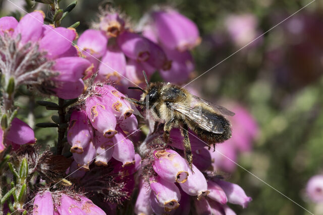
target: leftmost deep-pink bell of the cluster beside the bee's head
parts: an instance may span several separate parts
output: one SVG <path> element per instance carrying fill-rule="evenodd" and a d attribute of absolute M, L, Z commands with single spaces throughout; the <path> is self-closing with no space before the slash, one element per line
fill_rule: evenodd
<path fill-rule="evenodd" d="M 70 125 L 67 132 L 67 140 L 72 146 L 72 153 L 83 153 L 91 138 L 90 125 L 88 124 L 85 111 L 73 111 L 71 114 Z"/>

